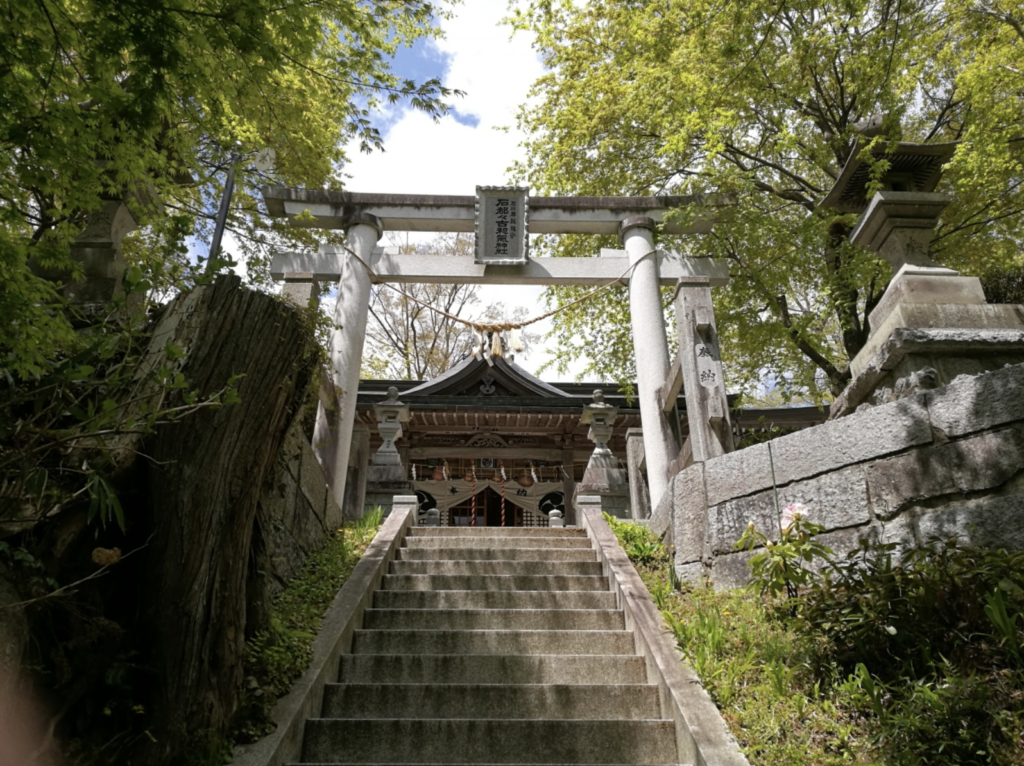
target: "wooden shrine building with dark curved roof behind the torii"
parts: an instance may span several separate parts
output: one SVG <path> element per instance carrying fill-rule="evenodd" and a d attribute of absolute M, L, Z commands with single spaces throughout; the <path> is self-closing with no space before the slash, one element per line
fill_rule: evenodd
<path fill-rule="evenodd" d="M 443 526 L 547 526 L 552 510 L 571 523 L 570 501 L 595 452 L 583 416 L 598 389 L 617 409 L 607 441 L 623 479 L 617 515 L 650 514 L 635 398 L 614 384 L 548 383 L 513 358 L 472 356 L 428 381 L 359 381 L 347 495 L 355 507 L 387 508 L 400 488 L 375 485 L 368 476 L 371 457 L 384 442 L 375 406 L 387 400 L 389 389 L 397 389 L 409 408 L 395 448 L 421 523 L 432 509 Z M 688 435 L 685 412 L 679 395 L 670 417 L 679 443 Z M 734 412 L 732 423 L 736 438 L 756 438 L 769 427 L 796 430 L 825 418 L 827 411 L 814 407 L 752 409 Z"/>

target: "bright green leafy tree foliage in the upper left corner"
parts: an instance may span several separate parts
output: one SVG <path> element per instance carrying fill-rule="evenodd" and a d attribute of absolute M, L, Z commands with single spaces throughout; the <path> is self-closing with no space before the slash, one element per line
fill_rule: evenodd
<path fill-rule="evenodd" d="M 388 63 L 437 34 L 441 12 L 423 0 L 0 2 L 0 369 L 36 375 L 71 342 L 53 286 L 27 264 L 73 267 L 69 244 L 104 199 L 133 195 L 147 226 L 129 259 L 173 284 L 233 163 L 230 225 L 258 280 L 269 243 L 299 239 L 260 217 L 259 183 L 339 187 L 343 144 L 381 144 L 375 108 L 445 112 L 438 81 Z M 272 175 L 251 167 L 264 147 Z"/>

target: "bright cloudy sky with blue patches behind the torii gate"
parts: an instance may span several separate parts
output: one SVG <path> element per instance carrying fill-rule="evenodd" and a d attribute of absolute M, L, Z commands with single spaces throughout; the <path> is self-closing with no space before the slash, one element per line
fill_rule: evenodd
<path fill-rule="evenodd" d="M 382 115 L 378 127 L 384 138 L 383 153 L 366 155 L 354 144 L 348 147 L 344 172 L 351 192 L 411 195 L 473 195 L 477 185 L 511 182 L 508 168 L 523 159 L 515 116 L 527 98 L 530 85 L 544 73 L 540 57 L 530 47 L 531 37 L 501 24 L 506 3 L 474 0 L 455 6 L 456 16 L 441 22 L 442 40 L 421 40 L 412 49 L 401 49 L 393 68 L 417 82 L 439 77 L 447 87 L 465 91 L 452 99 L 453 113 L 434 123 L 411 109 Z M 429 239 L 429 235 L 421 235 Z M 528 315 L 546 310 L 543 288 L 483 286 L 486 303 L 525 305 Z M 546 333 L 550 321 L 532 330 Z M 516 363 L 536 373 L 549 358 L 548 344 L 541 343 Z M 568 375 L 545 373 L 546 380 L 575 377 L 582 365 Z"/>

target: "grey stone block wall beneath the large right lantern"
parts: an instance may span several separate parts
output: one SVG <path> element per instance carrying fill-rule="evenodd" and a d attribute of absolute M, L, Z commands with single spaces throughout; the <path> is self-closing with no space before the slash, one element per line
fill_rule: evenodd
<path fill-rule="evenodd" d="M 1024 549 L 1024 365 L 969 377 L 697 463 L 673 477 L 650 525 L 671 534 L 685 579 L 741 585 L 753 553 L 733 544 L 751 521 L 766 534 L 778 503 L 801 503 L 839 553 L 860 539 L 933 536 Z M 770 536 L 771 537 L 771 536 Z"/>

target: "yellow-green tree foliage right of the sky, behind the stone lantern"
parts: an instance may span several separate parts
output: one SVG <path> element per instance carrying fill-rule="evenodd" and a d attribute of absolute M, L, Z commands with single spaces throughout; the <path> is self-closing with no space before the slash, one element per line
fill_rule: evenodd
<path fill-rule="evenodd" d="M 768 373 L 827 398 L 891 278 L 850 245 L 856 216 L 817 207 L 854 153 L 961 141 L 934 255 L 968 273 L 1020 267 L 1022 19 L 1015 0 L 535 0 L 512 23 L 550 71 L 520 113 L 516 170 L 542 194 L 710 195 L 678 216 L 711 206 L 712 233 L 663 245 L 729 261 L 716 308 L 731 383 Z M 596 348 L 631 379 L 627 315 L 610 291 L 559 314 L 562 358 Z"/>

